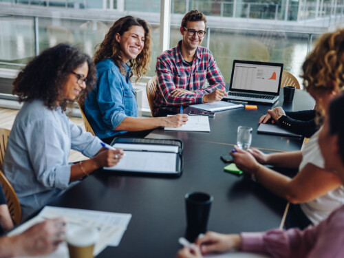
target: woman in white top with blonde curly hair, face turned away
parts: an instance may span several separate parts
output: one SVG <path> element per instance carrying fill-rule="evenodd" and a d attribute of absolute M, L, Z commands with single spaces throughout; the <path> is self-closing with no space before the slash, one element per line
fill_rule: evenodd
<path fill-rule="evenodd" d="M 344 30 L 321 36 L 302 69 L 303 85 L 316 100 L 318 114 L 323 116 L 330 100 L 344 87 Z M 288 226 L 305 228 L 319 224 L 344 204 L 341 180 L 336 173 L 324 169 L 318 135 L 319 131 L 314 133 L 302 151 L 265 154 L 257 149 L 237 149 L 231 153 L 239 169 L 292 203 Z M 299 173 L 288 178 L 261 164 L 299 169 Z"/>

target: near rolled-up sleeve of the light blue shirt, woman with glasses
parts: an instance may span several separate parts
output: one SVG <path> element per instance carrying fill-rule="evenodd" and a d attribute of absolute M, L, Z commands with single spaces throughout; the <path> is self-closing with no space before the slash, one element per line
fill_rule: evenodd
<path fill-rule="evenodd" d="M 61 140 L 61 127 L 54 120 L 36 120 L 23 133 L 32 169 L 37 180 L 47 189 L 66 189 L 69 185 L 69 142 Z M 68 146 L 64 146 L 67 144 Z"/>

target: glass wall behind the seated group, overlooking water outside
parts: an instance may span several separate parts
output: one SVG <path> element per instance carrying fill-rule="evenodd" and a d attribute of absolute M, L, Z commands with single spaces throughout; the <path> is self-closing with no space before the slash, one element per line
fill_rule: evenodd
<path fill-rule="evenodd" d="M 216 58 L 219 68 L 222 70 L 226 81 L 230 80 L 230 70 L 233 59 L 270 61 L 284 63 L 284 69 L 298 76 L 301 63 L 310 51 L 313 39 L 317 33 L 300 33 L 290 31 L 289 23 L 297 19 L 316 18 L 316 24 L 323 26 L 329 20 L 341 21 L 343 18 L 344 0 L 336 1 L 334 6 L 330 0 L 277 0 L 277 1 L 248 1 L 248 0 L 172 0 L 171 13 L 182 14 L 192 9 L 199 9 L 212 19 L 219 19 L 219 23 L 208 25 L 206 38 L 203 45 L 208 47 Z M 59 3 L 59 4 L 58 4 Z M 61 4 L 64 3 L 64 4 Z M 87 54 L 93 56 L 95 47 L 103 41 L 105 34 L 113 24 L 113 21 L 89 20 L 86 17 L 93 14 L 88 8 L 104 9 L 97 10 L 96 14 L 101 17 L 102 13 L 109 14 L 109 8 L 126 11 L 160 13 L 160 0 L 75 0 L 75 1 L 31 1 L 31 0 L 0 0 L 0 5 L 12 6 L 12 8 L 25 5 L 41 8 L 42 11 L 52 8 L 67 8 L 66 12 L 78 12 L 78 17 L 85 19 L 62 19 L 26 17 L 23 15 L 0 15 L 0 68 L 20 68 L 14 64 L 25 65 L 35 55 L 47 47 L 61 42 L 79 45 Z M 105 5 L 105 6 L 103 6 Z M 53 9 L 54 8 L 54 9 Z M 56 9 L 57 8 L 57 9 Z M 70 8 L 70 9 L 69 9 Z M 73 8 L 73 9 L 72 9 Z M 76 11 L 77 10 L 77 11 Z M 84 14 L 85 13 L 85 14 Z M 118 15 L 118 14 L 117 14 Z M 72 15 L 71 15 L 72 16 Z M 327 18 L 321 18 L 326 17 Z M 159 52 L 160 18 L 151 23 L 152 29 L 152 57 L 151 69 L 148 77 L 155 74 L 155 61 Z M 257 28 L 264 28 L 269 23 L 261 23 L 259 19 L 287 20 L 280 26 L 281 30 L 261 29 L 237 29 L 222 28 L 220 17 L 235 17 L 235 21 L 244 18 L 255 19 Z M 319 18 L 320 17 L 320 18 Z M 173 21 L 175 22 L 175 21 Z M 180 21 L 175 22 L 178 24 Z M 272 21 L 273 23 L 273 21 Z M 270 23 L 270 24 L 272 24 Z M 214 25 L 216 24 L 216 25 Z M 35 33 L 36 25 L 36 33 Z M 283 30 L 283 28 L 288 30 Z M 171 26 L 170 47 L 173 47 L 181 39 L 178 26 Z"/>

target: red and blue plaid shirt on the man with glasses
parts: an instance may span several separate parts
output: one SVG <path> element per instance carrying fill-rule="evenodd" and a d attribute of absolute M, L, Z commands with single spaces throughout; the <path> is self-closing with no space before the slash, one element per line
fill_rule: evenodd
<path fill-rule="evenodd" d="M 178 113 L 182 105 L 203 103 L 203 96 L 215 89 L 226 90 L 226 83 L 210 50 L 206 47 L 197 47 L 192 65 L 182 58 L 178 43 L 171 50 L 166 50 L 157 58 L 156 74 L 158 87 L 155 92 L 153 114 L 156 116 L 159 109 L 166 109 Z M 204 87 L 208 80 L 209 87 Z M 187 89 L 196 94 L 184 94 L 172 97 L 173 89 Z"/>

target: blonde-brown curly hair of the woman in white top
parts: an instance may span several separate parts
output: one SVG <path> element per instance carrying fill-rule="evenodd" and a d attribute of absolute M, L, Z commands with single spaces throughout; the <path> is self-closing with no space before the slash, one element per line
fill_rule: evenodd
<path fill-rule="evenodd" d="M 344 86 L 344 29 L 323 34 L 302 65 L 305 89 L 332 89 Z"/>

